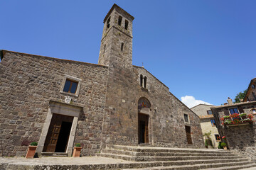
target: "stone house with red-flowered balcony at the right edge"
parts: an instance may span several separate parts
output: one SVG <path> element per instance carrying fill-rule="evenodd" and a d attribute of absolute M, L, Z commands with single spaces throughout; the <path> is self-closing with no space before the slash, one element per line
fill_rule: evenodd
<path fill-rule="evenodd" d="M 256 101 L 228 103 L 210 108 L 221 137 L 225 136 L 229 149 L 256 159 Z"/>

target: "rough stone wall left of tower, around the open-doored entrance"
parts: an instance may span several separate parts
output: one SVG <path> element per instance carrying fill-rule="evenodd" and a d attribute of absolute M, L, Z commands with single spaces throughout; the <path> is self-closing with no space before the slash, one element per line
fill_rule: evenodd
<path fill-rule="evenodd" d="M 83 107 L 75 143 L 82 144 L 85 155 L 100 149 L 107 67 L 4 51 L 0 73 L 4 156 L 24 156 L 27 145 L 38 142 L 50 100 L 64 102 L 69 96 L 60 92 L 65 75 L 82 79 L 79 96 L 70 96 L 71 105 Z"/>

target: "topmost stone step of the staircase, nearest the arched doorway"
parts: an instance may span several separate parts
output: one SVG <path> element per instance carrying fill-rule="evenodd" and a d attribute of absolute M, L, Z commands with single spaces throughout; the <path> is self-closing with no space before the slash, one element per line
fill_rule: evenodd
<path fill-rule="evenodd" d="M 122 145 L 107 145 L 106 149 L 117 149 L 132 152 L 187 152 L 187 153 L 230 153 L 223 149 L 185 149 L 167 147 L 131 147 Z"/>

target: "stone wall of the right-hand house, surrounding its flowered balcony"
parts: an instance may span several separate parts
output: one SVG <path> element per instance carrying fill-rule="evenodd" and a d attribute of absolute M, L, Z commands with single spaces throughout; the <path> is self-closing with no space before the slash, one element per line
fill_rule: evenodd
<path fill-rule="evenodd" d="M 235 103 L 233 105 L 215 106 L 211 108 L 216 120 L 216 126 L 221 136 L 225 136 L 229 149 L 233 152 L 240 152 L 245 157 L 256 160 L 256 125 L 222 125 L 220 118 L 228 115 L 229 108 L 238 108 L 240 113 L 252 114 L 252 109 L 256 108 L 256 101 Z M 253 114 L 255 116 L 255 114 Z M 255 121 L 256 118 L 253 118 Z"/>

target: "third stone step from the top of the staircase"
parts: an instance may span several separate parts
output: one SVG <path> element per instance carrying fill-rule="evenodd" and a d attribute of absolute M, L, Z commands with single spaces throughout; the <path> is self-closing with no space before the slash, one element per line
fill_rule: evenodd
<path fill-rule="evenodd" d="M 135 162 L 160 162 L 160 161 L 183 161 L 183 160 L 201 160 L 201 159 L 225 159 L 226 156 L 218 157 L 198 157 L 198 156 L 189 156 L 189 157 L 133 157 L 124 154 L 109 154 L 109 153 L 100 153 L 97 154 L 100 157 L 110 157 L 114 159 L 123 159 L 125 161 L 135 161 Z M 242 159 L 240 156 L 230 156 L 229 159 Z M 246 159 L 245 159 L 246 160 Z"/>

